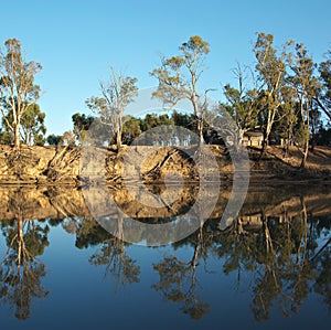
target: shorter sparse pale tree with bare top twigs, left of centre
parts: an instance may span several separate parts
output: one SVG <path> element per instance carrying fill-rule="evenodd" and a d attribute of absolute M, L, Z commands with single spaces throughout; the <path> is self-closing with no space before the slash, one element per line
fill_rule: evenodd
<path fill-rule="evenodd" d="M 116 135 L 117 150 L 121 146 L 122 117 L 126 107 L 134 102 L 138 93 L 137 78 L 117 74 L 110 68 L 109 82 L 100 82 L 102 97 L 93 96 L 86 99 L 87 107 L 97 114 L 103 124 L 110 127 Z"/>

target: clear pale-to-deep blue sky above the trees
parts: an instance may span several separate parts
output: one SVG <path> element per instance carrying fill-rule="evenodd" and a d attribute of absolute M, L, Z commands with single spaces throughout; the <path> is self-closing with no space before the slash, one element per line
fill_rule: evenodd
<path fill-rule="evenodd" d="M 273 33 L 281 45 L 303 42 L 316 62 L 331 49 L 330 0 L 140 0 L 1 1 L 0 42 L 21 41 L 28 60 L 43 65 L 47 134 L 72 128 L 71 116 L 89 114 L 85 99 L 98 94 L 110 65 L 154 86 L 149 72 L 160 55 L 174 55 L 191 35 L 210 43 L 201 88 L 233 83 L 232 68 L 253 64 L 256 32 Z"/>

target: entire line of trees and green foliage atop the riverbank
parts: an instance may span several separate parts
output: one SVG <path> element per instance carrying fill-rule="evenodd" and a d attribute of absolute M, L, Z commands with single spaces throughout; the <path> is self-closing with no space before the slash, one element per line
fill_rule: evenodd
<path fill-rule="evenodd" d="M 257 33 L 253 51 L 256 57 L 255 72 L 252 67 L 242 70 L 239 65 L 234 70 L 238 85 L 225 84 L 225 102 L 220 103 L 218 114 L 215 109 L 209 109 L 210 114 L 206 114 L 206 93 L 201 94 L 197 89 L 204 61 L 210 53 L 210 44 L 199 35 L 182 43 L 178 54 L 161 58 L 161 65 L 150 73 L 158 79 L 158 89 L 153 96 L 170 108 L 180 100 L 188 99 L 192 104 L 192 116 L 173 114 L 168 119 L 163 115 L 151 115 L 145 119 L 122 118 L 125 108 L 138 93 L 137 78 L 117 74 L 113 67 L 109 81 L 100 83 L 100 95 L 87 98 L 86 105 L 100 123 L 109 127 L 114 139 L 108 142 L 117 143 L 118 147 L 122 141 L 129 143 L 157 125 L 185 127 L 206 140 L 212 140 L 209 135 L 213 127 L 205 127 L 206 121 L 211 123 L 205 120 L 206 116 L 220 117 L 220 113 L 224 110 L 232 116 L 236 127 L 223 128 L 225 131 L 235 130 L 236 136 L 233 138 L 237 142 L 243 139 L 245 131 L 260 129 L 266 142 L 273 135 L 285 139 L 288 146 L 300 140 L 303 147 L 303 140 L 307 141 L 312 136 L 313 145 L 328 145 L 328 130 L 321 128 L 319 123 L 324 118 L 319 114 L 322 110 L 331 118 L 331 51 L 317 65 L 302 43 L 288 41 L 279 49 L 275 45 L 274 35 L 264 32 Z M 25 61 L 19 40 L 6 41 L 0 61 L 1 143 L 14 143 L 17 147 L 20 142 L 44 145 L 45 114 L 35 103 L 40 96 L 40 87 L 34 83 L 34 77 L 41 70 L 39 63 Z M 73 135 L 76 142 L 81 143 L 94 117 L 76 113 L 72 119 Z M 222 118 L 218 119 L 213 126 L 221 125 Z M 305 129 L 302 125 L 306 126 Z M 181 137 L 180 140 L 185 143 L 188 139 Z M 68 132 L 65 138 L 52 135 L 47 142 L 72 143 L 72 136 Z"/>

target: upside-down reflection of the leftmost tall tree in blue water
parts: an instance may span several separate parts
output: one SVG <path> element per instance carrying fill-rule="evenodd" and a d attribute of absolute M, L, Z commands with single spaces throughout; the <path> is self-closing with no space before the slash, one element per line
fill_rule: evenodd
<path fill-rule="evenodd" d="M 0 299 L 24 320 L 31 315 L 32 299 L 49 294 L 41 284 L 45 266 L 35 258 L 49 245 L 49 226 L 19 217 L 1 222 L 1 230 L 8 249 L 0 266 Z"/>

